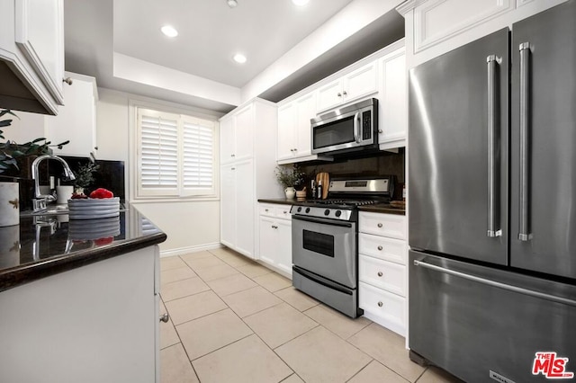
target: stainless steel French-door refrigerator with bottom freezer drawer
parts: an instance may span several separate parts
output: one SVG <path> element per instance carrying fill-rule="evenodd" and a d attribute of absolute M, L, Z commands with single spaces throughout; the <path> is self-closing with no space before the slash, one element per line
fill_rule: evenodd
<path fill-rule="evenodd" d="M 413 361 L 576 373 L 575 40 L 572 0 L 410 70 Z"/>

